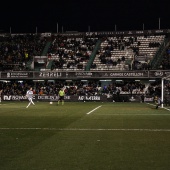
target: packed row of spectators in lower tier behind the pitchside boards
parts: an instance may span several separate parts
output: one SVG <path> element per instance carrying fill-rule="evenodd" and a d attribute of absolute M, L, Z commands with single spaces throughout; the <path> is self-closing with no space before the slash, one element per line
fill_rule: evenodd
<path fill-rule="evenodd" d="M 110 83 L 102 85 L 100 81 L 83 82 L 80 80 L 67 81 L 1 81 L 0 89 L 3 89 L 4 95 L 25 95 L 29 87 L 33 88 L 34 94 L 39 95 L 58 95 L 61 88 L 64 88 L 65 95 L 108 95 L 108 94 L 143 94 L 146 95 L 160 95 L 161 86 L 159 83 L 151 83 L 148 87 L 144 83 L 131 81 L 124 81 L 122 83 Z M 167 89 L 170 85 L 167 85 Z"/>

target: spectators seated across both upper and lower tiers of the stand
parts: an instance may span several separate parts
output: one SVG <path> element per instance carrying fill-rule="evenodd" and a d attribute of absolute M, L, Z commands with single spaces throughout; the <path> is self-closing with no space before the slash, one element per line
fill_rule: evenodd
<path fill-rule="evenodd" d="M 78 35 L 66 36 L 57 35 L 55 37 L 46 37 L 37 34 L 22 34 L 22 35 L 7 35 L 0 36 L 0 71 L 25 71 L 30 70 L 27 63 L 34 60 L 34 56 L 48 56 L 49 60 L 53 60 L 51 70 L 68 69 L 78 67 L 84 70 L 91 54 L 95 49 L 96 43 L 107 42 L 107 45 L 100 47 L 96 51 L 99 55 L 102 64 L 117 65 L 121 62 L 125 63 L 128 56 L 120 55 L 117 59 L 112 56 L 112 51 L 123 51 L 131 48 L 137 56 L 141 42 L 137 36 L 115 36 L 113 39 L 107 36 L 94 35 Z M 49 46 L 47 46 L 49 44 Z M 148 48 L 158 48 L 160 42 L 148 43 Z M 48 48 L 47 48 L 48 47 Z M 170 68 L 169 47 L 165 50 L 162 56 L 161 69 Z M 131 68 L 138 69 L 134 60 L 134 66 Z M 145 63 L 144 63 L 145 64 Z M 82 65 L 82 67 L 80 67 Z M 91 68 L 96 68 L 97 65 L 92 63 Z M 140 67 L 141 69 L 141 67 Z M 142 69 L 151 69 L 148 65 Z M 34 70 L 32 70 L 34 71 Z M 88 81 L 84 83 L 80 80 L 67 82 L 53 82 L 44 80 L 44 82 L 35 82 L 33 80 L 24 81 L 1 81 L 0 89 L 4 95 L 25 95 L 29 87 L 33 87 L 33 93 L 39 95 L 58 94 L 59 89 L 64 88 L 65 95 L 108 95 L 108 94 L 143 94 L 146 95 L 161 95 L 160 84 L 150 84 L 145 87 L 145 84 L 134 82 L 133 80 L 124 81 L 123 84 L 103 85 L 100 81 Z M 167 89 L 169 86 L 167 86 Z"/>

